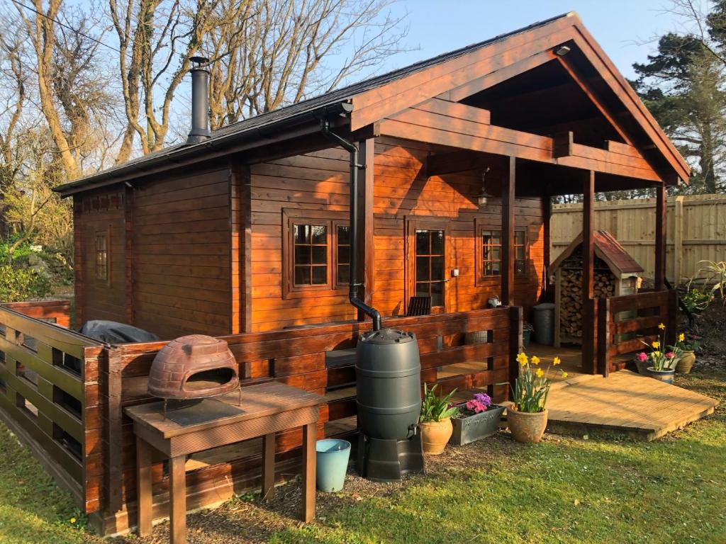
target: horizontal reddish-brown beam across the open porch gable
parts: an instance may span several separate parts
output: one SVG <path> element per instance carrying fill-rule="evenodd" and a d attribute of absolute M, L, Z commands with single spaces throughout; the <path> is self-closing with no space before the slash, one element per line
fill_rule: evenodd
<path fill-rule="evenodd" d="M 468 119 L 421 110 L 407 110 L 397 114 L 394 119 L 383 120 L 380 123 L 380 133 L 429 144 L 661 182 L 661 176 L 643 157 L 582 144 L 572 144 L 571 154 L 566 157 L 555 157 L 555 143 L 549 136 L 515 131 L 497 125 L 484 125 Z"/>

